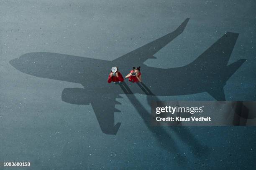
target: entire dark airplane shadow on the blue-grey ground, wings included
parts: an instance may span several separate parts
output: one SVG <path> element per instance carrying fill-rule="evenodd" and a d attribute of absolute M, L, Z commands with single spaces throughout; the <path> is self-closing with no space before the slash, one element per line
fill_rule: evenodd
<path fill-rule="evenodd" d="M 114 83 L 107 83 L 110 68 L 113 66 L 118 66 L 125 76 L 131 67 L 140 65 L 143 83 L 156 96 L 208 92 L 216 100 L 225 100 L 225 82 L 245 61 L 241 59 L 227 65 L 238 38 L 237 33 L 226 33 L 195 61 L 184 67 L 162 69 L 143 64 L 180 35 L 188 21 L 186 19 L 173 32 L 113 61 L 51 52 L 31 52 L 11 60 L 10 64 L 21 72 L 36 77 L 82 84 L 84 88 L 64 89 L 61 99 L 79 105 L 91 103 L 102 132 L 116 134 L 120 123 L 115 125 L 114 112 L 118 112 L 115 104 L 120 103 L 115 98 L 125 92 Z M 144 94 L 138 85 L 131 85 L 130 88 L 133 93 Z"/>

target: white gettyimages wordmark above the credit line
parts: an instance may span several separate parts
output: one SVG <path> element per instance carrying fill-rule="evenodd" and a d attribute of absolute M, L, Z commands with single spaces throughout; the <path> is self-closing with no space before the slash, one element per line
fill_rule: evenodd
<path fill-rule="evenodd" d="M 156 107 L 156 114 L 159 115 L 161 113 L 171 113 L 172 115 L 174 113 L 190 113 L 191 115 L 195 113 L 202 113 L 203 112 L 202 107 L 179 107 L 179 106 L 165 106 L 165 107 Z"/>

